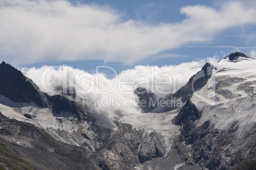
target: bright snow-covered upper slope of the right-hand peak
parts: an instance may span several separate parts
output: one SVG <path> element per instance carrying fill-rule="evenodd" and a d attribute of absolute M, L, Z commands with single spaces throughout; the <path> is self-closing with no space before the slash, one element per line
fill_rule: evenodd
<path fill-rule="evenodd" d="M 215 128 L 225 129 L 238 121 L 238 133 L 256 122 L 256 60 L 235 56 L 215 64 L 215 73 L 203 89 L 196 91 L 192 102 L 203 112 L 197 126 L 210 121 Z M 202 93 L 203 92 L 203 93 Z"/>

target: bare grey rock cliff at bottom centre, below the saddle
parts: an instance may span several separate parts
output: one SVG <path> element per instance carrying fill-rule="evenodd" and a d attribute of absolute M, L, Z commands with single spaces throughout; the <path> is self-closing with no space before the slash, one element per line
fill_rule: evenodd
<path fill-rule="evenodd" d="M 131 124 L 115 121 L 117 130 L 102 128 L 101 126 L 90 126 L 89 133 L 83 129 L 85 138 L 90 139 L 89 145 L 96 152 L 101 153 L 108 159 L 127 162 L 136 166 L 138 162 L 152 160 L 165 154 L 161 134 L 152 132 L 144 134 L 141 130 L 132 128 Z M 87 144 L 88 145 L 88 144 Z M 94 150 L 92 149 L 92 150 Z"/>

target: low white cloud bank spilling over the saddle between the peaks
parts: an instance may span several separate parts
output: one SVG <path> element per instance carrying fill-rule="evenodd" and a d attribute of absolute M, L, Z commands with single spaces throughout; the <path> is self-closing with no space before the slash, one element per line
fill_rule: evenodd
<path fill-rule="evenodd" d="M 162 97 L 167 93 L 174 93 L 201 70 L 205 62 L 216 63 L 217 59 L 207 58 L 162 67 L 138 65 L 134 69 L 116 74 L 112 79 L 108 79 L 101 72 L 89 74 L 65 65 L 21 70 L 48 94 L 75 92 L 77 99 L 80 99 L 78 103 L 85 103 L 85 106 L 89 104 L 89 107 L 96 111 L 98 121 L 105 122 L 105 126 L 108 126 L 113 117 L 129 122 L 139 114 L 140 110 L 136 104 L 139 98 L 134 94 L 136 88 L 146 88 Z"/>

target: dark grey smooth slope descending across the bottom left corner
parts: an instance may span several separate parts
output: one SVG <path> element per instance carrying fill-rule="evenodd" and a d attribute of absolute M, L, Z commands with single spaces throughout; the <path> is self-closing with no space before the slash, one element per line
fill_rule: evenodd
<path fill-rule="evenodd" d="M 8 164 L 8 160 L 23 160 L 28 169 L 100 169 L 97 165 L 101 160 L 96 154 L 85 148 L 56 141 L 31 124 L 8 119 L 0 113 L 0 127 L 1 145 L 8 150 L 3 163 L 8 168 L 14 165 L 17 169 L 24 169 L 21 163 Z M 13 152 L 17 154 L 16 157 L 11 155 Z"/>

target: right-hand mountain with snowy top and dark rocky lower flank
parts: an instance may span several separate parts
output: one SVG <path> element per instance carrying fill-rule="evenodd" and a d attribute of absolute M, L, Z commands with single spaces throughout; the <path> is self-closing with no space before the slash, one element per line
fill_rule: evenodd
<path fill-rule="evenodd" d="M 231 169 L 256 152 L 255 65 L 255 59 L 232 53 L 188 98 L 174 121 L 181 126 L 180 141 L 191 146 L 183 159 L 207 169 Z"/>

